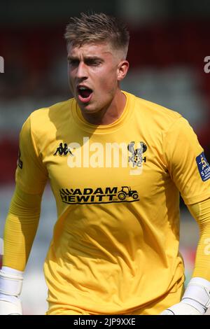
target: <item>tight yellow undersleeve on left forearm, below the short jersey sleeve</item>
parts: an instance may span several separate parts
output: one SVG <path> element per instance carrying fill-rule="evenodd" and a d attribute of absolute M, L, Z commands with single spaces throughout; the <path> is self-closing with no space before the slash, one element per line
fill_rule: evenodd
<path fill-rule="evenodd" d="M 3 266 L 25 270 L 38 227 L 40 209 L 41 194 L 31 195 L 16 186 L 3 234 Z"/>

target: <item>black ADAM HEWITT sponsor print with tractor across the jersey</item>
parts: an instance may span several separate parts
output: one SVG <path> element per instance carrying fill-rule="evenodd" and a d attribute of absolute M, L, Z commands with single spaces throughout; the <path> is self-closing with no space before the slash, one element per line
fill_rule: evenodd
<path fill-rule="evenodd" d="M 102 204 L 139 201 L 139 193 L 130 186 L 106 188 L 62 188 L 59 190 L 62 202 L 66 204 Z"/>

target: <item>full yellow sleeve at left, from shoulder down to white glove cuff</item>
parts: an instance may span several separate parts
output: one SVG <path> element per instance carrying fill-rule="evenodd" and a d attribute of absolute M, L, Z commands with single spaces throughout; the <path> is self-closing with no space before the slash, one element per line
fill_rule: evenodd
<path fill-rule="evenodd" d="M 29 116 L 20 132 L 16 188 L 4 228 L 3 266 L 20 271 L 25 269 L 38 227 L 41 195 L 47 180 L 48 172 L 43 165 Z"/>

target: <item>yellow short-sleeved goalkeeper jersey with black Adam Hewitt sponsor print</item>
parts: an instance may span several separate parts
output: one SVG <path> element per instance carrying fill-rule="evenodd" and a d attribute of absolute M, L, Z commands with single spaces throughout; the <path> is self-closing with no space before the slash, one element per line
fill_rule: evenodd
<path fill-rule="evenodd" d="M 49 179 L 57 204 L 50 305 L 123 314 L 183 284 L 179 191 L 186 204 L 210 197 L 209 164 L 179 113 L 124 93 L 111 125 L 87 123 L 69 99 L 22 127 L 16 182 L 37 194 Z"/>

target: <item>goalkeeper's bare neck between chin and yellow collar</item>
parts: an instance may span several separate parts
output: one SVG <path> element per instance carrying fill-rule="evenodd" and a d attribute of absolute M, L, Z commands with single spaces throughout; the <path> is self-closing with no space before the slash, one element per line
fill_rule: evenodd
<path fill-rule="evenodd" d="M 96 113 L 83 112 L 83 118 L 92 125 L 110 125 L 120 118 L 125 109 L 126 97 L 118 90 L 111 104 Z"/>

